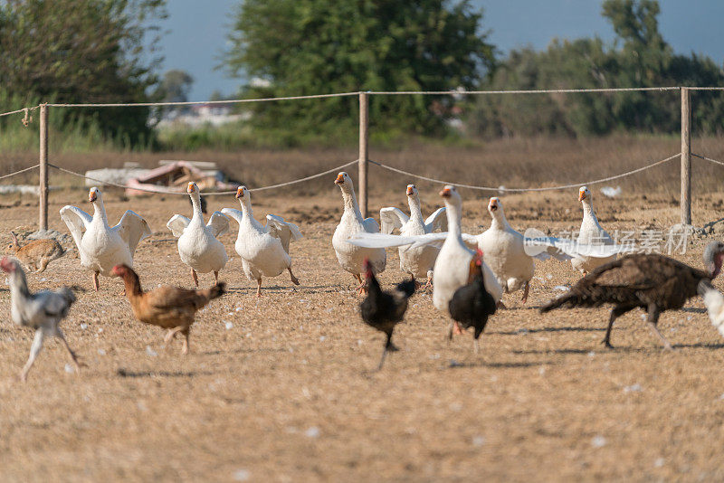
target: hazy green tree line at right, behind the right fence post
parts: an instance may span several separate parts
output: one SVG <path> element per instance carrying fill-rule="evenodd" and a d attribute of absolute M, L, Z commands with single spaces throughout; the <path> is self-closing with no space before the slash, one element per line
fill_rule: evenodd
<path fill-rule="evenodd" d="M 548 49 L 510 52 L 484 88 L 577 89 L 666 86 L 724 86 L 721 67 L 707 57 L 675 54 L 659 32 L 660 7 L 654 0 L 605 0 L 602 14 L 616 34 L 554 40 Z M 473 132 L 489 136 L 566 133 L 599 135 L 614 130 L 675 132 L 680 98 L 673 92 L 531 94 L 486 96 L 470 109 Z M 724 98 L 700 92 L 693 104 L 700 132 L 724 129 Z"/>

